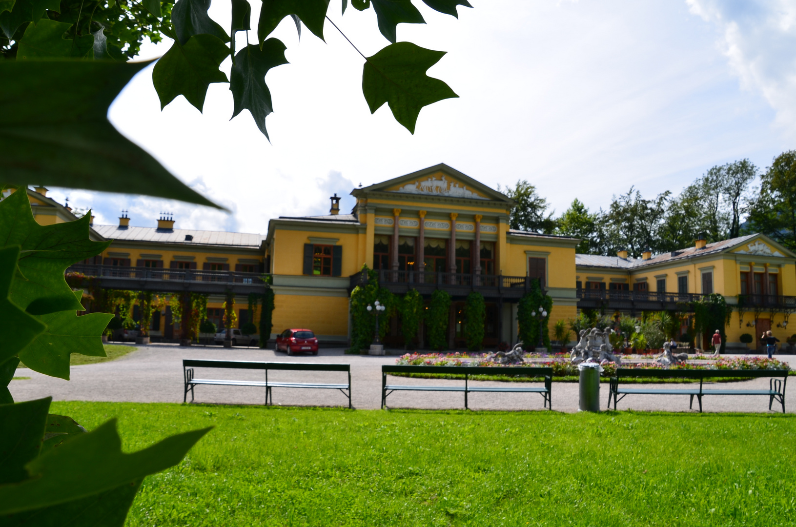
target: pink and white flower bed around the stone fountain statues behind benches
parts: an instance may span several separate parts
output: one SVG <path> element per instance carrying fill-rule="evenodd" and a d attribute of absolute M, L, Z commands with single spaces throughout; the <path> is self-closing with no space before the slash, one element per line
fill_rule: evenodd
<path fill-rule="evenodd" d="M 486 357 L 486 354 L 481 354 L 479 357 Z M 470 358 L 470 360 L 462 360 Z M 499 373 L 500 368 L 506 367 L 506 365 L 498 364 L 494 361 L 486 361 L 483 358 L 476 358 L 476 357 L 463 357 L 462 355 L 458 356 L 451 356 L 446 355 L 444 353 L 427 353 L 427 354 L 418 354 L 418 353 L 407 353 L 406 355 L 402 355 L 398 359 L 396 359 L 396 365 L 415 365 L 415 366 L 486 366 L 486 367 L 494 367 L 496 369 L 495 375 L 478 375 L 473 376 L 472 378 L 475 380 L 482 380 L 482 381 L 527 381 L 527 377 L 506 377 Z M 552 361 L 544 361 L 544 362 L 523 362 L 521 365 L 513 365 L 513 366 L 520 366 L 520 367 L 534 367 L 534 366 L 544 366 L 552 368 L 552 376 L 553 381 L 577 381 L 579 377 L 578 365 L 572 364 L 569 361 L 561 361 L 555 360 Z M 663 366 L 656 364 L 654 362 L 623 362 L 619 365 L 622 368 L 633 368 L 633 369 L 790 369 L 790 365 L 787 362 L 778 361 L 777 359 L 770 359 L 767 357 L 756 357 L 756 356 L 743 356 L 743 357 L 719 357 L 716 361 L 712 361 L 710 364 L 694 364 L 691 362 L 686 362 L 685 364 L 679 365 L 670 365 L 670 366 Z M 615 362 L 605 362 L 603 363 L 603 373 L 600 373 L 600 377 L 603 378 L 603 381 L 607 381 L 609 377 L 613 377 L 616 374 L 616 369 L 618 365 Z M 424 377 L 424 378 L 444 378 L 444 379 L 463 379 L 464 376 L 462 375 L 454 375 L 454 374 L 445 374 L 445 373 L 396 373 L 393 374 L 399 377 Z M 746 378 L 736 378 L 736 377 L 728 377 L 724 378 L 717 378 L 713 379 L 712 381 L 716 382 L 727 382 L 727 381 L 745 381 Z M 632 381 L 631 381 L 632 382 Z M 646 379 L 638 379 L 638 382 L 650 382 Z M 693 379 L 666 379 L 661 380 L 659 382 L 699 382 L 698 380 Z"/>

